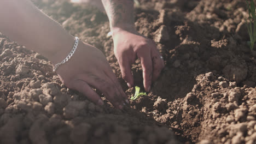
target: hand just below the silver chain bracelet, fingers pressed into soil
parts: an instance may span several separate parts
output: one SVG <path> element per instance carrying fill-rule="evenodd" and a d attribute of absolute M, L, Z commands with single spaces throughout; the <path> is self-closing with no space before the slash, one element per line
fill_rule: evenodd
<path fill-rule="evenodd" d="M 56 72 L 68 88 L 83 93 L 96 104 L 103 105 L 103 101 L 91 87 L 100 90 L 119 109 L 125 103 L 129 104 L 107 59 L 100 50 L 89 44 L 79 41 L 74 55 L 68 62 L 60 65 Z"/>

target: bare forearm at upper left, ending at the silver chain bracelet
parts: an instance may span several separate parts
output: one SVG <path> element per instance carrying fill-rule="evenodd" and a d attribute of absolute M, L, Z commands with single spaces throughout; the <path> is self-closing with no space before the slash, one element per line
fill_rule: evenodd
<path fill-rule="evenodd" d="M 0 20 L 0 32 L 54 64 L 59 61 L 56 57 L 65 58 L 61 52 L 68 54 L 74 43 L 72 35 L 28 0 L 1 0 Z"/>

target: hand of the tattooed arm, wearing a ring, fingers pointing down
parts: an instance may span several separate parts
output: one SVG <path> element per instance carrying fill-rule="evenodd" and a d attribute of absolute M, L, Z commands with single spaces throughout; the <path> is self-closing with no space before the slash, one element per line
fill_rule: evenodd
<path fill-rule="evenodd" d="M 137 56 L 141 59 L 144 88 L 149 92 L 152 81 L 158 78 L 164 68 L 164 61 L 154 41 L 143 37 L 135 30 L 113 28 L 112 32 L 114 53 L 118 59 L 123 79 L 130 88 L 133 86 L 131 64 L 135 63 Z"/>

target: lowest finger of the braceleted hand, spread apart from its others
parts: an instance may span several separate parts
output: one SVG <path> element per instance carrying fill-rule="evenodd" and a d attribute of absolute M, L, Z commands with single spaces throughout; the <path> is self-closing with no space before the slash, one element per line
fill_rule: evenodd
<path fill-rule="evenodd" d="M 78 80 L 73 85 L 74 89 L 83 93 L 88 99 L 98 105 L 103 105 L 101 97 L 83 80 Z"/>

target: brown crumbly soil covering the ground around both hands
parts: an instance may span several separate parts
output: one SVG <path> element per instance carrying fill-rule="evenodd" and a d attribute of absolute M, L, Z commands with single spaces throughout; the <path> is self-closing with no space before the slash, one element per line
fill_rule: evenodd
<path fill-rule="evenodd" d="M 106 14 L 65 0 L 33 2 L 100 49 L 132 97 Z M 256 56 L 247 45 L 245 1 L 139 2 L 136 29 L 156 41 L 166 67 L 152 91 L 124 110 L 66 88 L 46 58 L 0 33 L 0 143 L 256 142 Z M 139 63 L 132 70 L 143 87 Z"/>

